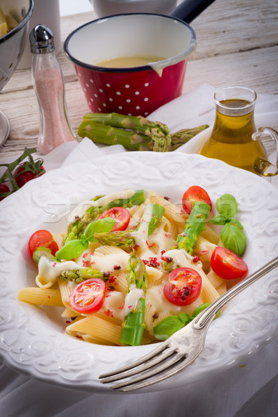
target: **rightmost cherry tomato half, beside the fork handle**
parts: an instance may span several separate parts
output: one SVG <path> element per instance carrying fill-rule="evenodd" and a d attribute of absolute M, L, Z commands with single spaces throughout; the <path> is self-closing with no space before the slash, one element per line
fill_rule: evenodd
<path fill-rule="evenodd" d="M 223 279 L 245 278 L 248 267 L 237 254 L 226 247 L 215 247 L 211 255 L 211 268 Z"/>

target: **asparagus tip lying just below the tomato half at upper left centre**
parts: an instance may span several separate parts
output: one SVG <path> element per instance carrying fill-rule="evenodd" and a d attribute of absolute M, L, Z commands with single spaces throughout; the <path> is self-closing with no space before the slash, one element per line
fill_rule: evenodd
<path fill-rule="evenodd" d="M 110 233 L 96 233 L 95 238 L 101 245 L 117 246 L 124 252 L 132 252 L 135 246 L 135 239 L 131 236 L 131 231 L 111 231 Z"/>

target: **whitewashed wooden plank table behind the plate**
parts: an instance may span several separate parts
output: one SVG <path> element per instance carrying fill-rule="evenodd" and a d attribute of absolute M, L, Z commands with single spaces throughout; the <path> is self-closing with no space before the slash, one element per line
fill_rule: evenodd
<path fill-rule="evenodd" d="M 95 13 L 61 17 L 62 40 L 95 19 Z M 215 88 L 245 85 L 261 94 L 278 94 L 277 0 L 216 0 L 193 22 L 197 48 L 190 55 L 183 92 L 202 83 Z M 77 130 L 89 111 L 74 67 L 63 50 L 58 61 L 65 78 L 67 108 Z M 10 120 L 10 136 L 0 158 L 36 147 L 39 133 L 38 101 L 31 70 L 16 70 L 0 92 L 0 109 Z"/>

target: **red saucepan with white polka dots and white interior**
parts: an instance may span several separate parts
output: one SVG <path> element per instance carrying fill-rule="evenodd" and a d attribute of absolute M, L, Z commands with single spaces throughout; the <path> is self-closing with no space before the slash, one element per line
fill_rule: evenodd
<path fill-rule="evenodd" d="M 113 15 L 73 31 L 65 40 L 65 54 L 74 63 L 90 111 L 147 116 L 179 97 L 187 58 L 196 45 L 188 22 L 212 1 L 183 1 L 169 16 Z M 149 61 L 116 67 L 115 58 Z"/>

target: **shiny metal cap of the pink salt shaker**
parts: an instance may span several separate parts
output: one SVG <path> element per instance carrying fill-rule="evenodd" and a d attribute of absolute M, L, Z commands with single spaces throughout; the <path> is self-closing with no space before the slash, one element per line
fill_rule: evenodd
<path fill-rule="evenodd" d="M 44 24 L 38 24 L 29 35 L 32 54 L 46 54 L 55 50 L 54 35 Z"/>

